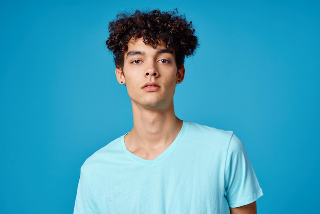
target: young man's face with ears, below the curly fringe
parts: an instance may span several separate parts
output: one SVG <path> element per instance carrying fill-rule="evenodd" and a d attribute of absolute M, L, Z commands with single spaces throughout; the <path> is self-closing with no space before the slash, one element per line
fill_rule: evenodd
<path fill-rule="evenodd" d="M 175 85 L 184 79 L 185 68 L 177 68 L 174 52 L 165 44 L 154 49 L 136 38 L 128 42 L 124 66 L 116 69 L 116 75 L 120 84 L 126 84 L 132 108 L 166 110 L 173 108 Z"/>

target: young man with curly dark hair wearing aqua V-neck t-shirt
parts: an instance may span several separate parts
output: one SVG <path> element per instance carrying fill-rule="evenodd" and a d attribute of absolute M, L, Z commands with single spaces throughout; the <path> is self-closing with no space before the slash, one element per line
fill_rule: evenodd
<path fill-rule="evenodd" d="M 263 194 L 241 141 L 175 116 L 184 59 L 198 45 L 192 23 L 176 11 L 135 11 L 109 32 L 134 125 L 85 161 L 74 213 L 256 213 Z"/>

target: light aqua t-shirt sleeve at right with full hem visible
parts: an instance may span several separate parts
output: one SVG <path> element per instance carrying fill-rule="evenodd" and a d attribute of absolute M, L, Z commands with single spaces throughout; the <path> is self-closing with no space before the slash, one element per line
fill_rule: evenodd
<path fill-rule="evenodd" d="M 225 194 L 233 208 L 253 203 L 263 195 L 243 143 L 234 134 L 226 157 Z"/>

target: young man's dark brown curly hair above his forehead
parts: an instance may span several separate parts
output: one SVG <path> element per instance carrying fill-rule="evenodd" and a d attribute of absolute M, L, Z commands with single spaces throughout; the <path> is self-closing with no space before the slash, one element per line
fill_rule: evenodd
<path fill-rule="evenodd" d="M 143 38 L 144 43 L 153 48 L 162 41 L 167 49 L 174 51 L 179 68 L 184 64 L 185 56 L 191 56 L 198 46 L 194 32 L 192 22 L 188 23 L 185 16 L 178 15 L 177 9 L 170 12 L 136 10 L 133 14 L 120 13 L 109 23 L 106 44 L 114 54 L 116 67 L 122 68 L 131 38 Z"/>

